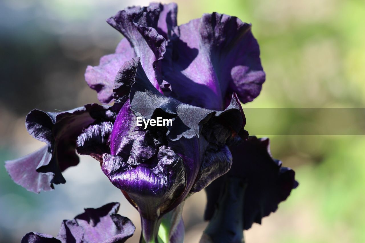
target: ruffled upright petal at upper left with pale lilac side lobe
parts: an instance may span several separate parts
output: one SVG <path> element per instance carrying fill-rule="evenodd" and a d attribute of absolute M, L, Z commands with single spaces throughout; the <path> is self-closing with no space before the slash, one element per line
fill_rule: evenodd
<path fill-rule="evenodd" d="M 119 11 L 107 22 L 120 31 L 123 38 L 115 53 L 100 59 L 99 66 L 88 66 L 85 80 L 96 90 L 98 99 L 107 104 L 113 99 L 114 78 L 124 62 L 141 57 L 143 68 L 154 86 L 168 92 L 167 82 L 161 80 L 160 61 L 165 53 L 165 39 L 177 26 L 175 3 L 151 3 L 149 7 L 131 7 Z"/>

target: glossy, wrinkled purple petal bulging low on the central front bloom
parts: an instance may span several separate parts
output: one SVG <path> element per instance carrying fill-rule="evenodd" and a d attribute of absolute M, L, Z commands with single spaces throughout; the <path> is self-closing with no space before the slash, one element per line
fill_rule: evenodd
<path fill-rule="evenodd" d="M 101 169 L 137 204 L 142 217 L 158 218 L 185 188 L 184 164 L 165 146 L 159 148 L 157 157 L 143 162 L 133 166 L 123 157 L 105 154 Z"/>

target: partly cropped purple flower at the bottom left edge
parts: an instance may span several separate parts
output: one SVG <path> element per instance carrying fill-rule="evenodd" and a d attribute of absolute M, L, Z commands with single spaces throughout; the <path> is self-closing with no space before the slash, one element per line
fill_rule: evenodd
<path fill-rule="evenodd" d="M 30 232 L 22 243 L 123 243 L 130 238 L 135 230 L 132 221 L 116 214 L 118 202 L 108 203 L 100 208 L 85 208 L 85 212 L 72 220 L 62 221 L 58 235 Z"/>

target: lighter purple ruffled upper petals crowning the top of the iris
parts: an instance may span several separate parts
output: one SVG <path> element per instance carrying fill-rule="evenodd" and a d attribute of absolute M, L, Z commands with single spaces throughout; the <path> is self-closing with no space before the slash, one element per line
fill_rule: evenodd
<path fill-rule="evenodd" d="M 212 13 L 177 26 L 176 15 L 176 4 L 153 3 L 126 8 L 108 19 L 125 38 L 115 54 L 85 73 L 101 102 L 112 100 L 118 67 L 132 56 L 141 58 L 156 89 L 172 89 L 170 96 L 183 103 L 223 110 L 233 92 L 243 103 L 259 95 L 265 73 L 250 24 Z"/>

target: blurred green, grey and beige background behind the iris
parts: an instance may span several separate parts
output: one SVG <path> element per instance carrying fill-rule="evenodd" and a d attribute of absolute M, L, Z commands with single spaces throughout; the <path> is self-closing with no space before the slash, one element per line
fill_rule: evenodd
<path fill-rule="evenodd" d="M 165 1 L 164 1 L 165 2 Z M 363 0 L 181 0 L 178 24 L 205 12 L 235 15 L 253 24 L 267 75 L 261 95 L 243 108 L 364 108 L 365 2 Z M 105 19 L 147 1 L 2 0 L 0 2 L 0 161 L 42 146 L 24 127 L 33 108 L 67 110 L 97 102 L 84 81 L 87 65 L 113 53 L 122 38 Z M 361 110 L 359 110 L 361 111 Z M 292 124 L 271 117 L 273 133 Z M 320 122 L 323 117 L 312 117 Z M 351 117 L 349 117 L 351 119 Z M 260 117 L 247 116 L 247 130 Z M 261 121 L 262 122 L 262 121 Z M 267 131 L 267 130 L 266 130 Z M 364 133 L 362 133 L 364 134 Z M 261 134 L 267 135 L 267 134 Z M 296 170 L 300 185 L 276 213 L 245 232 L 255 242 L 365 242 L 365 137 L 270 136 L 271 151 Z M 64 173 L 67 183 L 34 194 L 0 166 L 0 242 L 20 242 L 30 231 L 57 235 L 63 219 L 84 207 L 120 201 L 119 213 L 140 232 L 137 211 L 101 172 L 81 157 Z M 198 242 L 204 192 L 184 208 L 185 242 Z"/>

